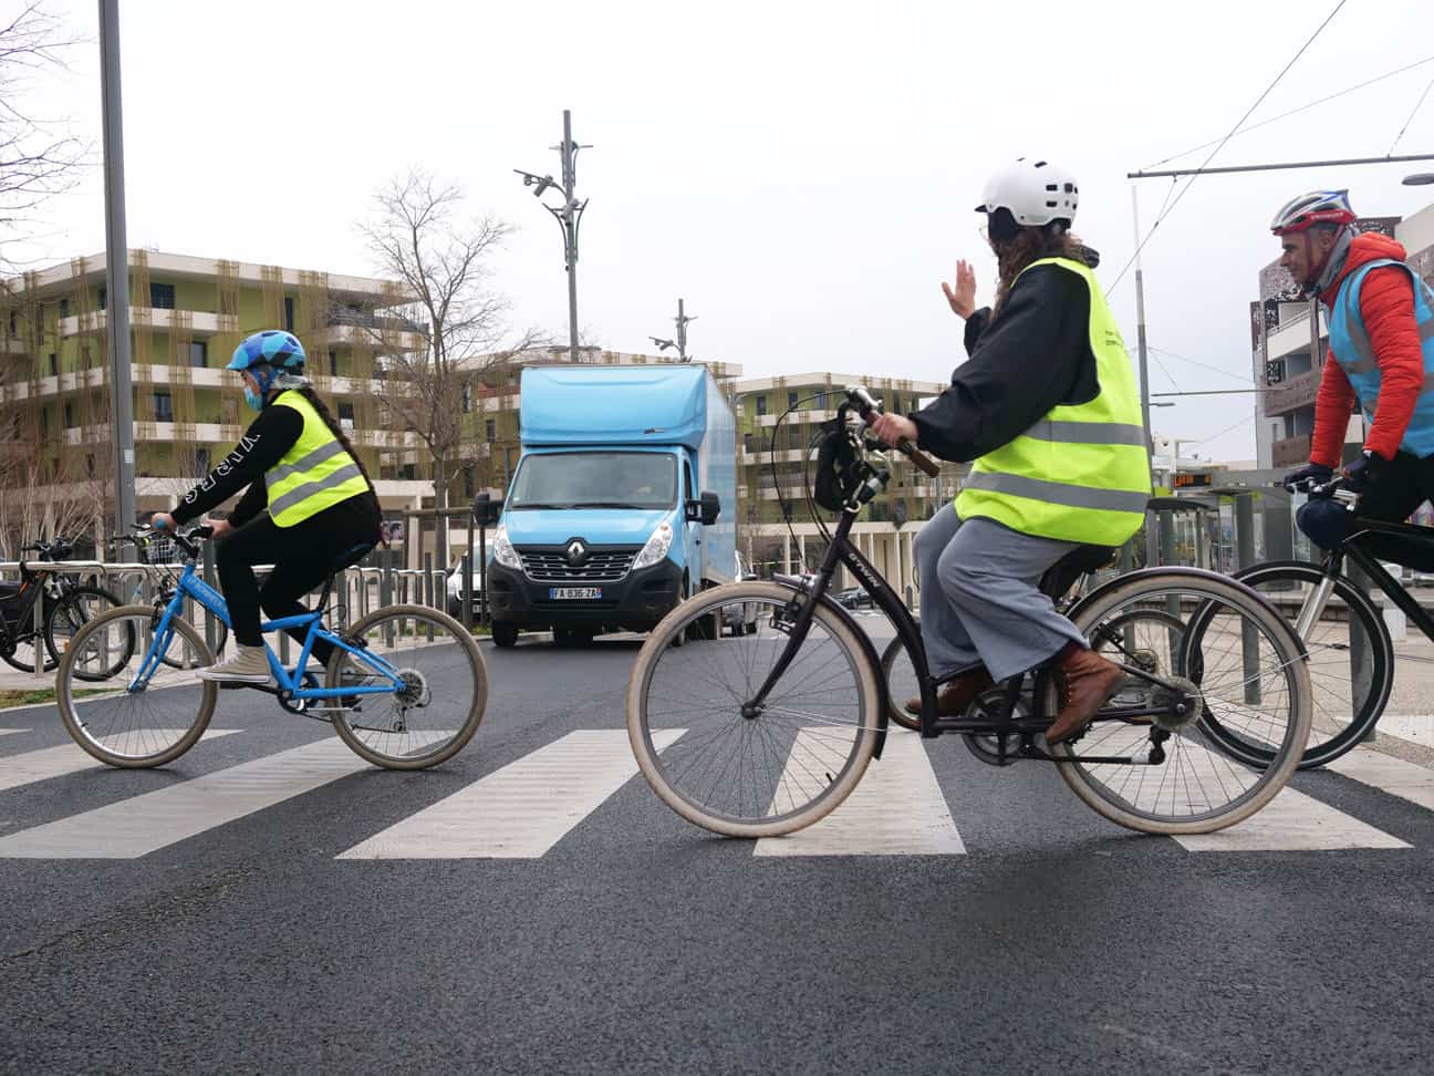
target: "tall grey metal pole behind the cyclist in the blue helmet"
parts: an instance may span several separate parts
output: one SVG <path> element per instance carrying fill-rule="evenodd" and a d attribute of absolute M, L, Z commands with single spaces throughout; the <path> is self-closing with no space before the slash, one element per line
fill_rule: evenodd
<path fill-rule="evenodd" d="M 109 327 L 109 436 L 115 456 L 115 532 L 135 525 L 135 400 L 129 370 L 129 248 L 125 238 L 125 136 L 119 100 L 119 0 L 99 0 L 105 141 L 105 288 Z M 128 551 L 120 552 L 128 560 Z"/>

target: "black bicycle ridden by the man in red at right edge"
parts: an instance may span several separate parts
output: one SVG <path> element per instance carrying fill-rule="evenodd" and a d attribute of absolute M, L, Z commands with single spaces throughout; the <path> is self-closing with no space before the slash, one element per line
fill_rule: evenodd
<path fill-rule="evenodd" d="M 1299 492 L 1334 498 L 1357 514 L 1359 498 L 1342 478 L 1295 483 Z M 1281 607 L 1309 650 L 1309 677 L 1315 689 L 1314 727 L 1301 769 L 1314 769 L 1351 752 L 1368 737 L 1394 689 L 1395 660 L 1420 661 L 1397 654 L 1388 624 L 1369 600 L 1368 587 L 1351 568 L 1378 587 L 1425 638 L 1434 641 L 1434 618 L 1385 571 L 1381 561 L 1434 570 L 1434 528 L 1388 524 L 1354 515 L 1349 537 L 1319 564 L 1268 561 L 1236 572 Z M 1238 733 L 1225 737 L 1228 750 L 1253 762 L 1265 758 L 1260 745 Z"/>

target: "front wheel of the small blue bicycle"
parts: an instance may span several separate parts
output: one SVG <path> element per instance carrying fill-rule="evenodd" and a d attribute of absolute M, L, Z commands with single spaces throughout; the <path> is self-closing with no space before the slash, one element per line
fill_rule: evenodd
<path fill-rule="evenodd" d="M 159 673 L 149 660 L 174 651 L 195 664 L 211 664 L 204 638 L 189 624 L 172 618 L 163 637 L 151 605 L 120 605 L 86 621 L 70 640 L 54 676 L 60 720 L 75 742 L 109 766 L 163 766 L 198 743 L 209 727 L 218 684 Z M 122 659 L 122 660 L 120 660 Z M 113 696 L 76 706 L 76 684 L 108 673 L 119 689 Z"/>

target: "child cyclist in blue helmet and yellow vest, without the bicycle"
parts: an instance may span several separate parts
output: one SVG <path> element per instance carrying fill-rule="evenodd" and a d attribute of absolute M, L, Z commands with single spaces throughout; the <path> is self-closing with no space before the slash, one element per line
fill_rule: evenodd
<path fill-rule="evenodd" d="M 260 416 L 199 485 L 152 522 L 172 529 L 248 486 L 227 521 L 211 521 L 238 654 L 199 676 L 267 684 L 260 608 L 274 618 L 303 613 L 298 598 L 320 585 L 343 554 L 377 544 L 379 498 L 343 428 L 304 377 L 298 337 L 254 333 L 227 369 L 244 377 L 244 399 Z M 262 588 L 254 580 L 255 564 L 274 565 Z M 331 651 L 323 641 L 314 644 L 321 663 Z"/>

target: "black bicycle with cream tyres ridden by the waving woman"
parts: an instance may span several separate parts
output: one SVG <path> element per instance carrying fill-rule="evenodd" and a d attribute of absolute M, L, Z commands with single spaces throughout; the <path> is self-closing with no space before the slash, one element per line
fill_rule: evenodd
<path fill-rule="evenodd" d="M 1001 765 L 1055 763 L 1088 806 L 1149 834 L 1222 829 L 1279 792 L 1309 736 L 1304 648 L 1265 598 L 1207 571 L 1129 572 L 1070 610 L 1091 646 L 1127 677 L 1076 740 L 1043 746 L 1058 690 L 1041 670 L 984 693 L 962 716 L 938 716 L 941 681 L 928 673 L 921 633 L 849 538 L 889 481 L 872 462 L 885 446 L 852 420 L 870 419 L 879 407 L 865 389 L 847 389 L 829 429 L 835 440 L 825 448 L 836 448 L 836 463 L 819 482 L 823 473 L 836 476 L 842 508 L 819 570 L 706 591 L 670 613 L 638 653 L 628 680 L 628 737 L 668 806 L 728 836 L 790 834 L 833 811 L 880 758 L 888 686 L 876 648 L 829 593 L 840 565 L 872 594 L 912 656 L 923 737 L 989 737 Z M 915 446 L 901 450 L 935 471 Z M 1094 555 L 1080 547 L 1064 567 Z M 759 605 L 756 634 L 671 647 L 691 624 L 737 603 Z M 1250 763 L 1225 750 L 1212 735 L 1216 723 L 1263 745 L 1269 759 Z"/>

